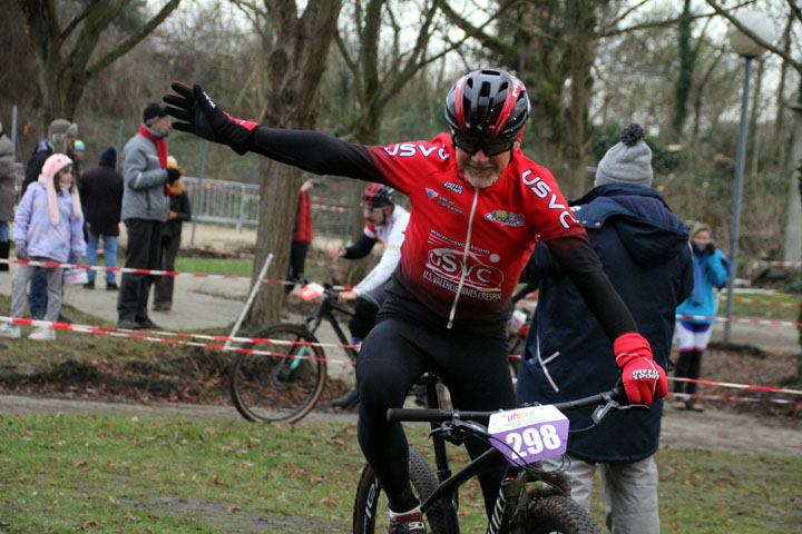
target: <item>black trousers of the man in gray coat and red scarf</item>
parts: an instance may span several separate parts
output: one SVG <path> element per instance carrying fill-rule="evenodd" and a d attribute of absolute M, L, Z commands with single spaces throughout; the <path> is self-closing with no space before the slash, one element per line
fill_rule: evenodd
<path fill-rule="evenodd" d="M 160 220 L 126 219 L 128 245 L 126 246 L 126 268 L 158 270 L 162 268 L 162 225 Z M 117 297 L 118 320 L 148 319 L 147 300 L 153 275 L 125 273 L 120 280 Z"/>

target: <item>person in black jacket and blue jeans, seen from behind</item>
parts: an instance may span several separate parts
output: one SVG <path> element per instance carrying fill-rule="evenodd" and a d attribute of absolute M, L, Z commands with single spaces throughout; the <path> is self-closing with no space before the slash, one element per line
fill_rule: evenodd
<path fill-rule="evenodd" d="M 117 171 L 117 150 L 106 147 L 94 169 L 84 172 L 78 182 L 84 217 L 87 222 L 87 265 L 97 265 L 97 249 L 102 239 L 106 267 L 117 267 L 117 238 L 123 207 L 123 175 Z M 84 287 L 95 289 L 96 271 L 87 271 Z M 106 271 L 106 289 L 119 289 L 115 273 Z"/>

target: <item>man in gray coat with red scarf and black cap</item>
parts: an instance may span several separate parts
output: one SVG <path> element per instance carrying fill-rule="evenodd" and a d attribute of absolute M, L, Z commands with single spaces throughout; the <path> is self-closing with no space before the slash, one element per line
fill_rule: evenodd
<path fill-rule="evenodd" d="M 162 225 L 167 220 L 167 187 L 180 177 L 167 168 L 165 138 L 173 126 L 164 108 L 148 103 L 143 125 L 123 149 L 123 210 L 128 245 L 127 268 L 159 269 Z M 147 315 L 151 275 L 125 273 L 117 298 L 117 326 L 126 329 L 158 328 Z"/>

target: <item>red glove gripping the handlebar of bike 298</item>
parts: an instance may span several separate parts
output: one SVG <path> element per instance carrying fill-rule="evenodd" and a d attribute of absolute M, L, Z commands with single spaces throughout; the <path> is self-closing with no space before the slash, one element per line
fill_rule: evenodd
<path fill-rule="evenodd" d="M 613 349 L 629 403 L 648 405 L 668 394 L 665 370 L 655 363 L 652 347 L 640 334 L 619 336 Z"/>

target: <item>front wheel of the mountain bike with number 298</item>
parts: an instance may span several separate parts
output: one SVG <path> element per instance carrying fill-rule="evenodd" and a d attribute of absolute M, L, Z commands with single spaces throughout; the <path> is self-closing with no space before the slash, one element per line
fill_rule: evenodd
<path fill-rule="evenodd" d="M 536 497 L 529 503 L 527 534 L 602 534 L 590 514 L 561 495 Z"/>

